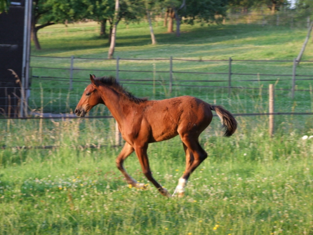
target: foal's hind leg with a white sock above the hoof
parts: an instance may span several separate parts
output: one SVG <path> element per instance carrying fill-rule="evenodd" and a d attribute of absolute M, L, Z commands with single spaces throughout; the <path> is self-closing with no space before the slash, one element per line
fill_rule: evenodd
<path fill-rule="evenodd" d="M 180 135 L 181 141 L 187 146 L 186 151 L 186 169 L 183 175 L 179 178 L 178 186 L 175 189 L 173 196 L 178 193 L 179 197 L 182 197 L 185 192 L 185 186 L 187 184 L 190 174 L 207 158 L 207 153 L 202 149 L 199 144 L 198 136 L 196 135 Z M 189 151 L 189 156 L 187 155 Z M 190 157 L 193 156 L 193 161 L 190 161 Z M 189 158 L 189 161 L 188 161 Z"/>

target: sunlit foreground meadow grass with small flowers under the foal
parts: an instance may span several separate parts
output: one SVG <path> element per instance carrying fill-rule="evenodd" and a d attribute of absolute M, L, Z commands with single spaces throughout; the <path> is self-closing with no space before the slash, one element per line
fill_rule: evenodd
<path fill-rule="evenodd" d="M 231 138 L 217 120 L 201 136 L 209 157 L 181 199 L 129 188 L 114 163 L 120 149 L 73 147 L 83 135 L 73 128 L 60 148 L 2 150 L 1 234 L 311 234 L 313 139 L 297 131 L 269 139 L 264 124 L 239 121 Z M 155 178 L 173 192 L 184 170 L 179 139 L 148 150 Z M 134 155 L 125 165 L 148 183 Z"/>

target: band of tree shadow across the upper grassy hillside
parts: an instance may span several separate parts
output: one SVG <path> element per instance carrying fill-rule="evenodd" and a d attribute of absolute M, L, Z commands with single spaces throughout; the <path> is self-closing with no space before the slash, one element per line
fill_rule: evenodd
<path fill-rule="evenodd" d="M 134 29 L 120 29 L 118 30 L 116 39 L 116 48 L 118 47 L 142 47 L 151 46 L 151 37 L 147 30 L 136 32 Z M 174 33 L 166 33 L 164 27 L 156 27 L 155 35 L 157 45 L 152 46 L 151 49 L 156 47 L 165 46 L 207 46 L 208 44 L 221 43 L 236 44 L 237 40 L 244 40 L 237 42 L 238 46 L 243 43 L 253 45 L 276 45 L 286 43 L 287 41 L 296 40 L 295 34 L 290 32 L 290 28 L 286 27 L 262 27 L 260 25 L 210 25 L 210 26 L 191 26 L 182 25 L 181 36 L 176 37 Z M 290 37 L 280 37 L 282 34 L 290 34 Z M 300 35 L 301 36 L 301 35 Z M 300 37 L 298 36 L 298 37 Z M 245 39 L 247 41 L 245 41 Z M 235 41 L 234 41 L 235 40 Z M 48 45 L 47 45 L 48 42 Z M 110 47 L 109 41 L 103 36 L 95 34 L 86 35 L 86 37 L 60 37 L 55 40 L 43 40 L 42 51 L 33 50 L 33 55 L 45 54 L 47 52 L 65 52 L 71 50 L 94 50 L 101 51 L 107 50 Z M 130 48 L 132 49 L 132 48 Z M 135 48 L 133 48 L 135 49 Z M 140 49 L 140 48 L 139 48 Z M 147 48 L 145 48 L 147 49 Z M 99 52 L 100 53 L 100 52 Z M 94 54 L 94 53 L 92 53 Z"/>

